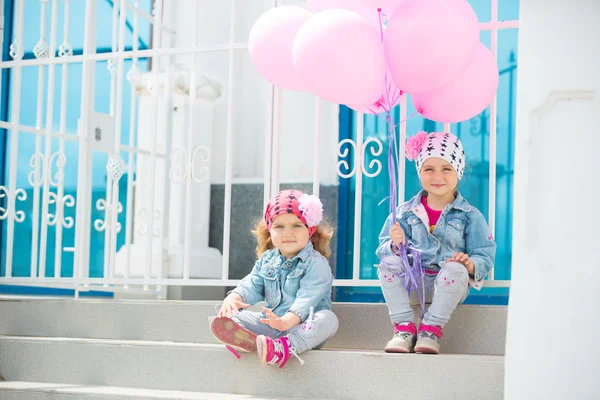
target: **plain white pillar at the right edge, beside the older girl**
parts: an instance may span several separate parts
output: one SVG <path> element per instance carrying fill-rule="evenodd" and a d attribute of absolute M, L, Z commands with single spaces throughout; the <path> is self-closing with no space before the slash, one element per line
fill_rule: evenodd
<path fill-rule="evenodd" d="M 600 398 L 598 16 L 521 0 L 509 400 Z"/>

